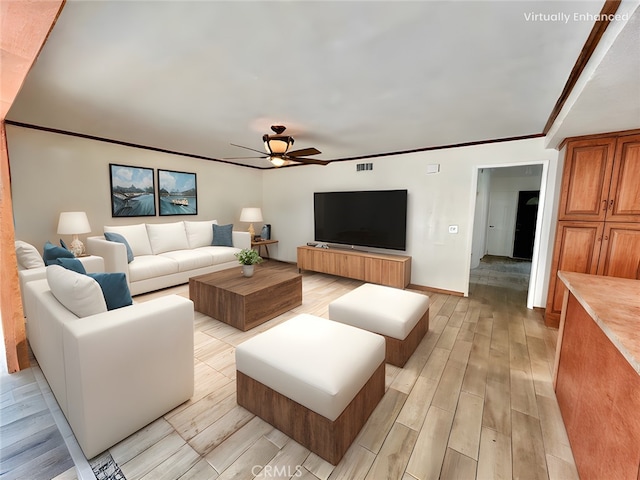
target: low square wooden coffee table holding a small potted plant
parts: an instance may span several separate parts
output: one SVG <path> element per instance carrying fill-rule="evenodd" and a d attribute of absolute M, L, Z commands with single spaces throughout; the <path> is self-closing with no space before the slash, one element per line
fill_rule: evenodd
<path fill-rule="evenodd" d="M 256 266 L 252 277 L 230 268 L 189 279 L 198 312 L 246 332 L 302 305 L 302 275 Z"/>

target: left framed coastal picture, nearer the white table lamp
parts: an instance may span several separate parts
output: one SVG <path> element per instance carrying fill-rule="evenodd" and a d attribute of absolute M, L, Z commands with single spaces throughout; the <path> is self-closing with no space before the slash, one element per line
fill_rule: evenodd
<path fill-rule="evenodd" d="M 153 217 L 156 195 L 153 168 L 109 164 L 112 217 Z"/>

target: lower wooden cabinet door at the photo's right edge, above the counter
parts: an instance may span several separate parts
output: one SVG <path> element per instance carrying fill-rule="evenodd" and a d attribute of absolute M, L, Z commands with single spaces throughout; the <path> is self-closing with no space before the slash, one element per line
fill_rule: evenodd
<path fill-rule="evenodd" d="M 640 224 L 605 223 L 598 275 L 640 280 Z"/>

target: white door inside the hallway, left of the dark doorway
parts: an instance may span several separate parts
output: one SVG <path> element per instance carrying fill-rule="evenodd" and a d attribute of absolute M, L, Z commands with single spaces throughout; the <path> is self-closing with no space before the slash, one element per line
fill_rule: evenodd
<path fill-rule="evenodd" d="M 510 257 L 513 253 L 513 228 L 516 205 L 513 192 L 491 192 L 487 253 Z"/>

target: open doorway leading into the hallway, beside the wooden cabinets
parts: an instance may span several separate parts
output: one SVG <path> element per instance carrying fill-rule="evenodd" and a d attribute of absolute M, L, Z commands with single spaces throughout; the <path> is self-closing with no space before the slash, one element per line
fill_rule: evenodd
<path fill-rule="evenodd" d="M 470 290 L 484 284 L 530 293 L 542 173 L 542 164 L 478 169 Z"/>

